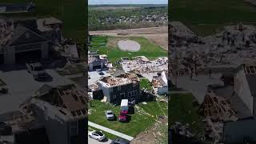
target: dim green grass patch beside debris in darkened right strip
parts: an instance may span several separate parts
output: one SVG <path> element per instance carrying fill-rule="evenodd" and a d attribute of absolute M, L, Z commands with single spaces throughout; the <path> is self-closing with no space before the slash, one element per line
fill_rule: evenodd
<path fill-rule="evenodd" d="M 202 116 L 198 115 L 198 108 L 192 105 L 193 101 L 192 94 L 170 94 L 169 126 L 173 126 L 174 122 L 189 123 L 192 133 L 202 133 Z"/>

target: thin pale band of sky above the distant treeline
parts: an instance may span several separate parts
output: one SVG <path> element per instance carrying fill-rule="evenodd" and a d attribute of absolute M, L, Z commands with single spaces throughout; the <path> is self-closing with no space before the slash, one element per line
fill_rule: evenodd
<path fill-rule="evenodd" d="M 89 0 L 89 5 L 100 4 L 167 4 L 168 0 Z"/>

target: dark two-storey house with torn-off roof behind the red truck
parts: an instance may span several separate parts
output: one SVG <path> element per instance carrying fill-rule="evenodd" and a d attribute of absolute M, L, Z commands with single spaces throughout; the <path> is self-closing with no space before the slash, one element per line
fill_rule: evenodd
<path fill-rule="evenodd" d="M 106 101 L 120 104 L 122 99 L 140 99 L 139 78 L 136 74 L 126 73 L 118 77 L 104 77 L 98 81 L 98 86 L 102 89 Z"/>

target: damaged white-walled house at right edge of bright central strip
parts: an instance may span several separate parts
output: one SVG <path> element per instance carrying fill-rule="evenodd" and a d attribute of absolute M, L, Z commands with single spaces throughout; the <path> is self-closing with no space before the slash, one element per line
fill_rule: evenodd
<path fill-rule="evenodd" d="M 154 86 L 157 94 L 167 94 L 168 93 L 168 77 L 165 71 L 158 73 L 157 76 L 154 76 L 151 84 Z"/>

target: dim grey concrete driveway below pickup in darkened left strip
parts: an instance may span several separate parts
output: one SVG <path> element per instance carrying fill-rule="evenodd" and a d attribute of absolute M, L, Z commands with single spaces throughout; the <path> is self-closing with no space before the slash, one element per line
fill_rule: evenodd
<path fill-rule="evenodd" d="M 8 94 L 0 94 L 0 114 L 18 110 L 20 104 L 30 98 L 44 84 L 65 86 L 74 83 L 59 75 L 55 70 L 46 70 L 46 72 L 50 75 L 49 79 L 45 82 L 38 82 L 26 70 L 0 71 L 0 78 L 6 82 L 9 89 Z"/>

